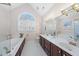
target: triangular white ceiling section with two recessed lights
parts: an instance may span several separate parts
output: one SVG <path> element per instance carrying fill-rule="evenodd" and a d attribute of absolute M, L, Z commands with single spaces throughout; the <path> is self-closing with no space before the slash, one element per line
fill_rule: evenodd
<path fill-rule="evenodd" d="M 55 3 L 31 3 L 32 8 L 40 15 L 45 15 Z"/>

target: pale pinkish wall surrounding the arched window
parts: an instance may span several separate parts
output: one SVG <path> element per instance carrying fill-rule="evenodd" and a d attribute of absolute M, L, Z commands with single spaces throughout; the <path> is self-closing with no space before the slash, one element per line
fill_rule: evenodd
<path fill-rule="evenodd" d="M 12 33 L 12 37 L 15 37 L 18 34 L 18 29 L 17 29 L 18 28 L 17 27 L 18 22 L 17 22 L 17 20 L 18 20 L 19 15 L 22 12 L 30 12 L 35 16 L 36 29 L 35 29 L 35 32 L 29 33 L 29 35 L 31 37 L 28 37 L 28 39 L 36 37 L 36 35 L 40 33 L 41 18 L 40 18 L 39 15 L 37 15 L 37 13 L 28 4 L 21 5 L 21 6 L 11 10 L 11 16 L 12 16 L 11 33 Z"/>

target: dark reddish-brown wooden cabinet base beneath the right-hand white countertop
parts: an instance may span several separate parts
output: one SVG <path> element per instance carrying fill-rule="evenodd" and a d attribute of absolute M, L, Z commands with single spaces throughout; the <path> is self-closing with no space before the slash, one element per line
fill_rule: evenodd
<path fill-rule="evenodd" d="M 72 56 L 42 36 L 40 36 L 39 42 L 48 56 Z"/>

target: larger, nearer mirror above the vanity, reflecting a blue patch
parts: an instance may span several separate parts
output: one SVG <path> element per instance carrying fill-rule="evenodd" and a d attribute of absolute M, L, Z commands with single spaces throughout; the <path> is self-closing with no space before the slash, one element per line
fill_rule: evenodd
<path fill-rule="evenodd" d="M 73 19 L 68 16 L 59 16 L 57 17 L 57 35 L 63 36 L 65 38 L 73 37 L 74 35 L 74 26 Z"/>

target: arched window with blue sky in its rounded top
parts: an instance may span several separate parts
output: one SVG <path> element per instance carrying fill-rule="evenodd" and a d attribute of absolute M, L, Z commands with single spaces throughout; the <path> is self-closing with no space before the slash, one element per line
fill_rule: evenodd
<path fill-rule="evenodd" d="M 35 31 L 35 18 L 29 12 L 23 12 L 18 19 L 19 32 L 34 32 Z"/>

